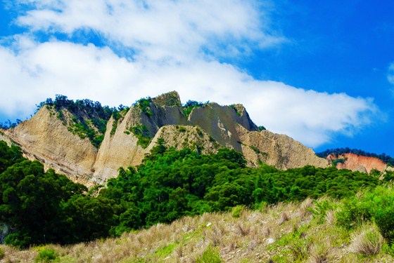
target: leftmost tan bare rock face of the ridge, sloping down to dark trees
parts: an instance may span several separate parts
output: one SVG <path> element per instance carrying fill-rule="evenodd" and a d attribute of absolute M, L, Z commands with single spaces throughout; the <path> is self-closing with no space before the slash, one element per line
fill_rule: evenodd
<path fill-rule="evenodd" d="M 68 175 L 75 182 L 88 184 L 97 149 L 88 138 L 70 133 L 47 107 L 42 107 L 29 121 L 6 130 L 30 160 L 39 160 L 45 168 Z"/>

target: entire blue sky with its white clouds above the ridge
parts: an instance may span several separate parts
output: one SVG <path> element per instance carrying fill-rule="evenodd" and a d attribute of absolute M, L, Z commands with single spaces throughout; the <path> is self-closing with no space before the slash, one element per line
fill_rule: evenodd
<path fill-rule="evenodd" d="M 56 94 L 117 106 L 177 90 L 241 102 L 315 151 L 394 156 L 393 1 L 0 3 L 0 121 Z"/>

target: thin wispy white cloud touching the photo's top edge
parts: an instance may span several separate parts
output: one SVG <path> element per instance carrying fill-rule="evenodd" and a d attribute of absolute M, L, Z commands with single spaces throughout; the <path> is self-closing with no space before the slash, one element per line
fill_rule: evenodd
<path fill-rule="evenodd" d="M 92 29 L 150 60 L 184 61 L 202 55 L 202 49 L 239 55 L 249 45 L 284 41 L 269 32 L 269 16 L 258 1 L 68 0 L 61 6 L 43 2 L 34 1 L 37 9 L 18 23 L 34 31 L 67 34 Z"/>

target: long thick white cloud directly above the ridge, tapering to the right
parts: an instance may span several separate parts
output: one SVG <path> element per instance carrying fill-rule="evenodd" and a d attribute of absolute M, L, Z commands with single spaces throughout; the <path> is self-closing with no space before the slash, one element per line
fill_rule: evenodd
<path fill-rule="evenodd" d="M 31 112 L 34 103 L 55 94 L 129 105 L 139 97 L 177 90 L 184 102 L 241 102 L 255 123 L 317 146 L 335 133 L 362 128 L 376 112 L 371 100 L 258 81 L 216 61 L 131 62 L 109 48 L 59 41 L 36 43 L 18 55 L 1 48 L 0 70 L 5 76 L 0 86 L 6 87 L 0 109 L 9 113 Z"/>

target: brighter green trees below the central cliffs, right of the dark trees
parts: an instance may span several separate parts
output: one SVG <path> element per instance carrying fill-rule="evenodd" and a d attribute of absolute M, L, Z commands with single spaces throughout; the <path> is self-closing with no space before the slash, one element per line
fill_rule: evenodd
<path fill-rule="evenodd" d="M 236 151 L 220 149 L 202 155 L 191 149 L 153 148 L 144 163 L 119 170 L 100 196 L 120 204 L 118 222 L 111 233 L 172 222 L 184 215 L 231 210 L 234 206 L 258 207 L 261 203 L 301 201 L 307 196 L 352 196 L 360 187 L 375 187 L 376 177 L 336 168 L 277 170 L 271 166 L 246 167 Z M 241 206 L 240 206 L 241 207 Z M 236 211 L 241 208 L 234 208 Z M 318 203 L 316 215 L 324 217 L 331 203 Z"/>

